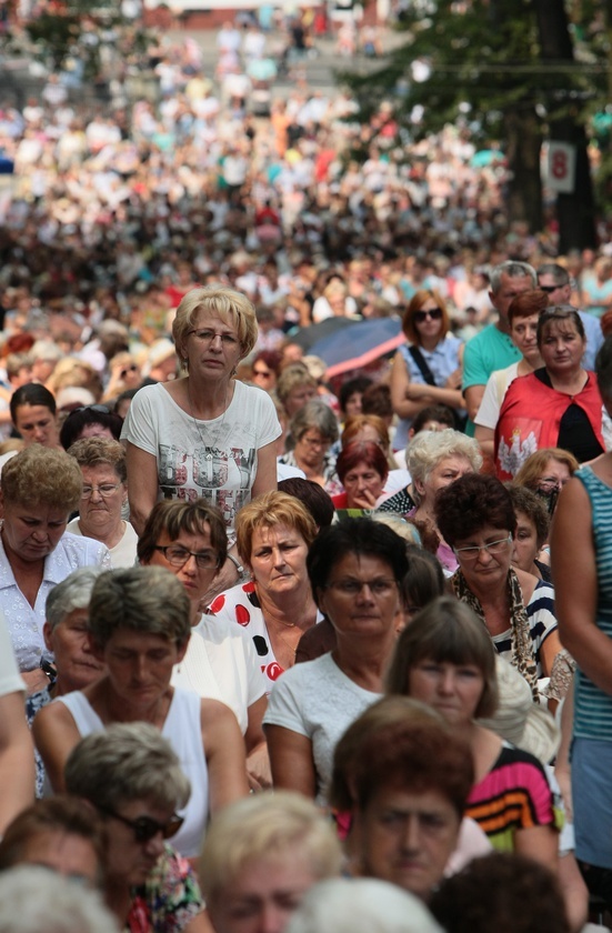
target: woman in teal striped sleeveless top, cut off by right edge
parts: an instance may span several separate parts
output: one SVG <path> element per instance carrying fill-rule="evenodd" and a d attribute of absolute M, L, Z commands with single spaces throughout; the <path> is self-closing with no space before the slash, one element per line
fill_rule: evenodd
<path fill-rule="evenodd" d="M 612 340 L 598 354 L 598 382 L 612 410 Z M 610 909 L 612 819 L 612 453 L 582 466 L 563 489 L 552 538 L 552 568 L 563 644 L 578 662 L 572 740 L 575 854 Z"/>

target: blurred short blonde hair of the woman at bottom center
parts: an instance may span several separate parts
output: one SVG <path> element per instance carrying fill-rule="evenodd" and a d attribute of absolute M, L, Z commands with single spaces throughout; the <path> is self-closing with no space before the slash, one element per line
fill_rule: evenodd
<path fill-rule="evenodd" d="M 264 791 L 232 803 L 205 835 L 199 875 L 207 903 L 214 907 L 249 862 L 297 855 L 305 856 L 317 880 L 340 874 L 340 843 L 312 801 L 291 791 Z"/>

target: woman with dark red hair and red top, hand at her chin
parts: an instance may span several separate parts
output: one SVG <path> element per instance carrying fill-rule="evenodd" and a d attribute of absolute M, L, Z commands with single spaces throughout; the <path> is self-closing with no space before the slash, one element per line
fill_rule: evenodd
<path fill-rule="evenodd" d="M 344 486 L 344 492 L 331 498 L 337 509 L 375 509 L 387 499 L 383 490 L 389 468 L 379 444 L 355 442 L 344 447 L 335 471 Z"/>

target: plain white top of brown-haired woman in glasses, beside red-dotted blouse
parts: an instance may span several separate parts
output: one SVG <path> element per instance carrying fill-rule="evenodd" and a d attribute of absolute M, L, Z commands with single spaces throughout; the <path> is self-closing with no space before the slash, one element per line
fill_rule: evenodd
<path fill-rule="evenodd" d="M 191 630 L 187 654 L 172 671 L 172 686 L 220 700 L 235 713 L 242 734 L 249 706 L 265 694 L 265 681 L 251 639 L 238 626 L 202 615 Z"/>

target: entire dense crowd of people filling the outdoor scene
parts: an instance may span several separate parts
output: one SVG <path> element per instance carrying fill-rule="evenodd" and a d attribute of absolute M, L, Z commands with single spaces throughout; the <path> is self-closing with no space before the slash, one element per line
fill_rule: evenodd
<path fill-rule="evenodd" d="M 468 126 L 299 70 L 254 116 L 274 41 L 0 104 L 0 931 L 576 933 L 612 911 L 612 261 L 509 228 Z M 341 318 L 399 345 L 328 379 Z"/>

